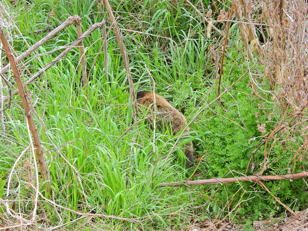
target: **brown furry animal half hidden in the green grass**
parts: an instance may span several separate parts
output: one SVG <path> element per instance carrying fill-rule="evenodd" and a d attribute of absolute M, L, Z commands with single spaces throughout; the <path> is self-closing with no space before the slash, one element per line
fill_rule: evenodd
<path fill-rule="evenodd" d="M 184 128 L 187 124 L 187 121 L 180 113 L 180 111 L 176 110 L 174 107 L 170 105 L 170 103 L 164 99 L 162 96 L 155 93 L 155 101 L 158 112 L 165 112 L 157 114 L 159 124 L 164 124 L 164 128 L 167 128 L 168 125 L 172 126 L 173 135 L 178 133 L 182 128 Z M 154 105 L 154 97 L 153 92 L 151 91 L 139 91 L 137 92 L 137 104 L 143 105 L 145 107 L 149 107 L 151 104 L 151 111 L 156 111 Z M 152 120 L 150 120 L 152 122 Z M 190 129 L 187 127 L 184 132 L 189 132 Z M 188 166 L 193 165 L 194 155 L 193 155 L 193 142 L 185 144 L 185 156 L 188 160 L 186 160 L 186 164 Z"/>

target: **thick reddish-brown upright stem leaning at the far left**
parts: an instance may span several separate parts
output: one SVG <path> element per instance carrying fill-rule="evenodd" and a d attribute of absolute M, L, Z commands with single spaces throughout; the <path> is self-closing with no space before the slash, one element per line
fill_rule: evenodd
<path fill-rule="evenodd" d="M 48 170 L 47 170 L 44 155 L 43 155 L 43 149 L 42 149 L 42 146 L 41 146 L 41 141 L 39 139 L 39 134 L 37 132 L 36 125 L 34 123 L 32 110 L 31 110 L 31 108 L 28 104 L 28 99 L 26 97 L 26 92 L 24 90 L 24 87 L 23 87 L 23 84 L 22 84 L 22 81 L 21 81 L 21 78 L 20 78 L 20 73 L 19 73 L 17 65 L 16 65 L 17 60 L 15 59 L 15 56 L 13 55 L 13 52 L 10 49 L 9 42 L 6 40 L 6 37 L 5 37 L 2 29 L 0 29 L 0 40 L 1 40 L 1 43 L 3 44 L 3 47 L 5 49 L 5 53 L 6 53 L 8 59 L 10 61 L 10 65 L 11 65 L 12 70 L 13 70 L 15 82 L 17 84 L 19 95 L 20 95 L 20 98 L 22 100 L 22 104 L 23 104 L 23 107 L 24 107 L 24 110 L 25 110 L 26 120 L 28 120 L 28 123 L 29 123 L 29 126 L 30 126 L 30 131 L 31 131 L 31 134 L 32 134 L 32 137 L 33 137 L 33 145 L 34 145 L 34 148 L 35 148 L 36 157 L 38 158 L 40 172 L 41 172 L 41 175 L 42 175 L 43 182 L 45 182 L 45 181 L 49 180 L 48 179 L 49 177 L 48 177 Z M 47 182 L 45 182 L 45 184 L 46 184 L 46 192 L 49 195 L 51 195 L 50 182 L 47 181 Z"/>

